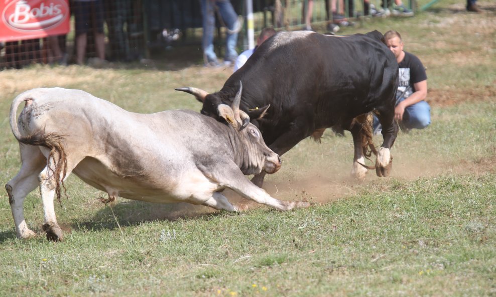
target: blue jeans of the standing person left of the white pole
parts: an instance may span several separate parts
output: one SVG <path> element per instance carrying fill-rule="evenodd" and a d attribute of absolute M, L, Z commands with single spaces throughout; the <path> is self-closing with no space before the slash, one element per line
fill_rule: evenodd
<path fill-rule="evenodd" d="M 237 27 L 237 15 L 229 0 L 200 0 L 201 12 L 203 14 L 203 56 L 205 62 L 216 61 L 217 56 L 213 51 L 213 33 L 215 30 L 215 7 L 218 8 L 225 26 L 229 30 Z M 236 43 L 237 33 L 229 34 L 226 37 L 225 58 L 234 59 L 237 57 Z"/>

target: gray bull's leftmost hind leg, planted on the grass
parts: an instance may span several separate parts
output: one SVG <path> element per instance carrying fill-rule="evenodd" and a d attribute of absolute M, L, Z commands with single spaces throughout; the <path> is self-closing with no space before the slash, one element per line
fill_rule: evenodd
<path fill-rule="evenodd" d="M 22 166 L 19 173 L 10 180 L 5 188 L 9 195 L 12 216 L 16 225 L 16 236 L 18 238 L 29 238 L 36 233 L 29 229 L 24 219 L 23 204 L 26 196 L 39 185 L 38 174 L 43 170 L 46 159 L 36 146 L 21 144 Z"/>

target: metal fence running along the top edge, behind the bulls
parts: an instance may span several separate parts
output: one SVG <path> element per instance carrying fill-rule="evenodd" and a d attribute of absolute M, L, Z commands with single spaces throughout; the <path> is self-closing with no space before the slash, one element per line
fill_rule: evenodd
<path fill-rule="evenodd" d="M 256 34 L 265 27 L 276 30 L 296 30 L 304 24 L 309 0 L 253 0 Z M 312 23 L 332 21 L 332 0 L 314 0 Z M 363 12 L 363 0 L 336 0 L 337 7 L 344 6 L 345 16 L 355 18 Z M 390 0 L 391 1 L 391 0 Z M 377 7 L 388 6 L 387 1 L 371 0 Z M 246 16 L 245 2 L 231 0 L 238 15 Z M 31 40 L 0 42 L 0 69 L 22 68 L 32 63 L 76 63 L 78 39 L 76 38 L 75 13 L 78 7 L 69 2 L 71 29 L 67 35 Z M 411 7 L 412 2 L 407 4 Z M 87 33 L 85 59 L 98 57 L 95 43 L 94 8 L 88 17 L 91 28 Z M 136 61 L 149 58 L 150 50 L 166 49 L 169 45 L 201 44 L 201 9 L 199 0 L 103 0 L 104 59 L 108 61 Z M 217 43 L 223 38 L 220 22 Z M 97 39 L 97 35 L 96 35 Z M 0 39 L 1 41 L 2 39 Z M 239 34 L 238 46 L 245 48 L 246 26 Z M 87 61 L 87 60 L 86 60 Z"/>

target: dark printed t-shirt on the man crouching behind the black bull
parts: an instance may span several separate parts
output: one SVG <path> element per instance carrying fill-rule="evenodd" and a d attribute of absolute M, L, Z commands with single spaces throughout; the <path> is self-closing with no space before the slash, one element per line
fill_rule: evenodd
<path fill-rule="evenodd" d="M 425 81 L 427 79 L 427 74 L 425 73 L 424 65 L 420 62 L 419 58 L 415 55 L 405 52 L 405 58 L 398 64 L 399 79 L 400 83 L 398 85 L 398 91 L 396 96 L 401 96 L 403 92 L 410 86 L 410 90 L 405 93 L 404 98 L 408 98 L 415 92 L 413 84 Z"/>

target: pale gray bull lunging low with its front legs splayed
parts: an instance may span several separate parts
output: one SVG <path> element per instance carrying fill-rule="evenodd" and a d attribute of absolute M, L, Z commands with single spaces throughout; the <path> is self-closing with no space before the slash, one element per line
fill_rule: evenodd
<path fill-rule="evenodd" d="M 26 195 L 38 186 L 43 230 L 61 240 L 54 212 L 64 180 L 73 172 L 117 196 L 158 203 L 189 202 L 236 211 L 220 193 L 230 188 L 279 210 L 308 206 L 274 199 L 243 174 L 274 173 L 280 158 L 252 124 L 242 129 L 239 89 L 232 106 L 219 106 L 229 124 L 188 110 L 128 112 L 80 90 L 33 89 L 14 99 L 10 124 L 22 167 L 5 186 L 19 238 L 35 235 L 24 219 Z M 26 105 L 17 120 L 18 106 Z"/>

